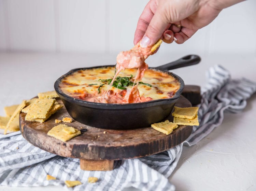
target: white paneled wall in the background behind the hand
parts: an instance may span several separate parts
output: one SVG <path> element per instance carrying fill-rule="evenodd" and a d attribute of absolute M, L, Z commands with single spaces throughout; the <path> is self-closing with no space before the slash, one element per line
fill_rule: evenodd
<path fill-rule="evenodd" d="M 0 50 L 118 53 L 133 46 L 147 0 L 0 0 Z M 256 1 L 223 10 L 183 45 L 162 53 L 256 55 Z"/>

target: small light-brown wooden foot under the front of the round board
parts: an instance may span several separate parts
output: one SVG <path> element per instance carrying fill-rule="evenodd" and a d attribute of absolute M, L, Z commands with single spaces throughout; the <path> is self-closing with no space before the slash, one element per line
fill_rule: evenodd
<path fill-rule="evenodd" d="M 80 159 L 80 168 L 87 171 L 110 171 L 114 169 L 114 160 Z"/>

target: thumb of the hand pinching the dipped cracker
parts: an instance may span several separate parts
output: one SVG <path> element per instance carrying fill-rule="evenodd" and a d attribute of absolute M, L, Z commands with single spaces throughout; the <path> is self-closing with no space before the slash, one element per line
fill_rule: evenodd
<path fill-rule="evenodd" d="M 166 15 L 168 15 L 167 10 L 158 6 L 141 40 L 141 47 L 154 45 L 162 37 L 163 32 L 170 25 Z"/>

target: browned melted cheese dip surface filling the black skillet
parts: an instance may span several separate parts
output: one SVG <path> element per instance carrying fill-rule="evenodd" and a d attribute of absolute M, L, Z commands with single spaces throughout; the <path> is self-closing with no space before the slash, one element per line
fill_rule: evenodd
<path fill-rule="evenodd" d="M 102 67 L 94 69 L 79 70 L 66 76 L 59 84 L 63 93 L 75 99 L 99 103 L 138 103 L 158 99 L 172 98 L 180 88 L 180 83 L 168 73 L 148 69 L 140 82 L 152 85 L 152 87 L 138 84 L 139 92 L 133 92 L 134 87 L 128 86 L 126 90 L 110 87 L 108 84 L 100 85 L 105 79 L 113 79 L 114 67 Z M 136 76 L 137 69 L 126 69 L 118 74 L 121 77 Z M 134 81 L 131 79 L 130 81 Z M 99 89 L 100 87 L 100 89 Z M 133 89 L 132 89 L 133 87 Z M 110 88 L 104 98 L 102 94 Z M 98 92 L 100 90 L 100 92 Z M 136 94 L 140 94 L 138 95 Z M 134 98 L 134 99 L 133 99 Z M 139 98 L 139 99 L 138 99 Z"/>

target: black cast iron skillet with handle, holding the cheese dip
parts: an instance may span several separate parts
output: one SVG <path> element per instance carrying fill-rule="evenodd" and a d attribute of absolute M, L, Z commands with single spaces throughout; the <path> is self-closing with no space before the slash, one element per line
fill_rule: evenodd
<path fill-rule="evenodd" d="M 91 68 L 107 67 L 97 66 L 89 68 L 77 68 L 70 70 L 62 75 L 54 84 L 54 88 L 65 105 L 69 115 L 76 121 L 99 128 L 106 129 L 134 129 L 147 127 L 152 123 L 157 123 L 170 115 L 174 104 L 179 99 L 184 88 L 184 82 L 181 77 L 169 72 L 175 68 L 195 65 L 200 62 L 201 58 L 197 55 L 187 55 L 174 62 L 151 68 L 172 75 L 177 79 L 181 86 L 174 94 L 173 98 L 159 99 L 142 103 L 131 104 L 106 104 L 94 103 L 74 99 L 63 93 L 59 88 L 61 80 L 77 70 L 86 70 Z"/>

